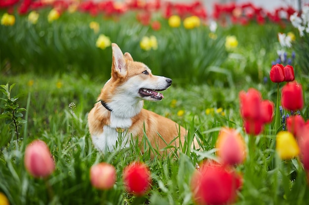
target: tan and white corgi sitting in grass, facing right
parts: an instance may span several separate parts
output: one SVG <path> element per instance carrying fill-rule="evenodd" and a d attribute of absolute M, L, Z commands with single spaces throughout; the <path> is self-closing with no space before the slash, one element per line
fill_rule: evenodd
<path fill-rule="evenodd" d="M 138 138 L 140 143 L 144 134 L 151 145 L 159 150 L 169 145 L 179 147 L 180 142 L 184 145 L 185 128 L 171 119 L 143 109 L 143 100 L 162 100 L 160 91 L 169 88 L 172 80 L 153 75 L 144 63 L 134 61 L 129 53 L 123 55 L 115 43 L 112 43 L 112 50 L 111 78 L 88 114 L 94 146 L 103 152 L 113 151 L 119 132 L 124 135 L 122 147 L 129 145 L 131 136 Z"/>

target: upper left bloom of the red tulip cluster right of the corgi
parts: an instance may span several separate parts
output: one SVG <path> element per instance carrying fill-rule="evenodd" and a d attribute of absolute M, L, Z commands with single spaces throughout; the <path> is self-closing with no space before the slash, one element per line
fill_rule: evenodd
<path fill-rule="evenodd" d="M 260 119 L 261 111 L 261 93 L 254 89 L 249 88 L 248 92 L 239 92 L 240 100 L 240 113 L 243 119 L 258 120 Z"/>

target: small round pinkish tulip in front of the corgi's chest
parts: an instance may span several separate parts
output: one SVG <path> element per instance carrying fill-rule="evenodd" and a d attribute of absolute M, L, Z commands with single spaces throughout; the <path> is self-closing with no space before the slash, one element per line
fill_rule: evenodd
<path fill-rule="evenodd" d="M 93 165 L 90 168 L 90 181 L 97 189 L 111 189 L 116 182 L 116 169 L 105 162 Z"/>

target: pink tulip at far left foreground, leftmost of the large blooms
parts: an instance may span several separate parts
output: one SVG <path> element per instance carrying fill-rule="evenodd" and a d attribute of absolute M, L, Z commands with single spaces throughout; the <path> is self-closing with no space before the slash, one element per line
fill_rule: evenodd
<path fill-rule="evenodd" d="M 26 170 L 37 178 L 49 176 L 55 170 L 48 146 L 41 140 L 35 140 L 26 147 L 24 163 Z"/>

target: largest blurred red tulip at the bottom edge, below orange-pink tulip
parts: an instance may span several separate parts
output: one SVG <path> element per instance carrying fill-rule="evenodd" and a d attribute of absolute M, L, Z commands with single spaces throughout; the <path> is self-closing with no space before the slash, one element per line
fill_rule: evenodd
<path fill-rule="evenodd" d="M 219 164 L 208 162 L 195 171 L 191 180 L 193 199 L 197 205 L 232 204 L 240 188 L 241 176 Z"/>

